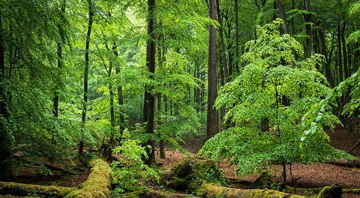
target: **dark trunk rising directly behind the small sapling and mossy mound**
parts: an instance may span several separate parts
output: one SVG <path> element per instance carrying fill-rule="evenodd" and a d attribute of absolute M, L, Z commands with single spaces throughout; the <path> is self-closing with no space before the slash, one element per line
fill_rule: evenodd
<path fill-rule="evenodd" d="M 149 59 L 149 62 L 147 62 L 149 72 L 151 73 L 150 78 L 154 78 L 155 74 L 155 56 L 156 56 L 156 35 L 155 35 L 155 0 L 148 0 L 148 32 L 150 33 L 151 39 L 148 40 L 147 44 L 147 59 Z M 149 56 L 149 58 L 148 58 Z M 149 90 L 146 91 L 145 94 L 148 94 L 149 102 L 148 102 L 148 118 L 147 118 L 147 127 L 146 127 L 146 133 L 147 134 L 153 134 L 154 133 L 154 114 L 155 114 L 155 96 L 152 93 L 153 87 L 150 87 Z M 145 106 L 145 104 L 144 104 Z M 153 164 L 155 163 L 155 141 L 153 139 L 149 139 L 146 142 L 146 152 L 148 155 L 147 159 L 144 159 L 145 164 Z M 149 149 L 149 147 L 151 149 Z"/>

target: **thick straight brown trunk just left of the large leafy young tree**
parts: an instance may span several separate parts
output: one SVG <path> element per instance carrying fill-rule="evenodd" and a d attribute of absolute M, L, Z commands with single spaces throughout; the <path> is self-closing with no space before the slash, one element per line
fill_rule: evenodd
<path fill-rule="evenodd" d="M 209 16 L 215 20 L 215 0 L 209 0 Z M 208 90 L 207 90 L 207 119 L 206 138 L 209 139 L 217 134 L 218 115 L 213 107 L 218 96 L 217 88 L 217 56 L 216 56 L 216 32 L 209 25 L 209 59 L 208 59 Z"/>

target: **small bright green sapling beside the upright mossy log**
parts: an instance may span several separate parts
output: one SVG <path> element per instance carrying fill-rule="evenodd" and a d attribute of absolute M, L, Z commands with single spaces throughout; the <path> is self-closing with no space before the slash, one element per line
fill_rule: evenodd
<path fill-rule="evenodd" d="M 114 193 L 124 193 L 140 190 L 142 181 L 157 182 L 159 176 L 148 165 L 143 164 L 141 156 L 147 157 L 146 151 L 139 146 L 139 140 L 128 139 L 128 132 L 124 131 L 125 139 L 116 147 L 114 154 L 120 154 L 120 159 L 111 164 Z"/>

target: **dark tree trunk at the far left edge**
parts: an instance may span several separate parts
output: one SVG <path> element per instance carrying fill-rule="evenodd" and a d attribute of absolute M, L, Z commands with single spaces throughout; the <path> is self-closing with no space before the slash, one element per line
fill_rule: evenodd
<path fill-rule="evenodd" d="M 9 180 L 13 177 L 11 151 L 12 138 L 7 129 L 9 112 L 7 107 L 7 88 L 5 87 L 5 48 L 4 35 L 2 26 L 2 14 L 0 10 L 0 180 Z"/>

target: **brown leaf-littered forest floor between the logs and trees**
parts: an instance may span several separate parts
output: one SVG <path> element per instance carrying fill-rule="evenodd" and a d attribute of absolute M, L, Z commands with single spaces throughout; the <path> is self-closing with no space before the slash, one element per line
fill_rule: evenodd
<path fill-rule="evenodd" d="M 348 151 L 353 145 L 360 139 L 360 136 L 349 136 L 344 129 L 337 129 L 335 132 L 328 132 L 331 137 L 330 144 L 337 149 Z M 197 154 L 201 149 L 203 141 L 193 141 L 188 142 L 187 145 L 183 145 L 184 149 L 192 154 Z M 166 150 L 166 159 L 159 159 L 159 153 L 156 152 L 156 161 L 157 163 L 162 164 L 161 168 L 169 168 L 175 166 L 179 161 L 181 161 L 188 154 L 186 152 L 181 152 L 179 150 Z M 352 153 L 356 157 L 360 157 L 360 146 L 358 146 Z M 28 183 L 28 184 L 39 184 L 39 185 L 58 185 L 64 187 L 76 187 L 82 182 L 86 181 L 89 174 L 89 168 L 84 164 L 73 159 L 73 164 L 77 165 L 73 169 L 73 173 L 58 174 L 61 171 L 53 171 L 53 175 L 48 175 L 46 177 L 35 175 L 30 168 L 24 168 L 20 170 L 20 175 L 17 179 L 14 180 L 18 183 Z M 226 160 L 218 162 L 219 167 L 223 170 L 225 176 L 228 179 L 237 179 L 241 183 L 250 183 L 254 182 L 259 175 L 251 175 L 243 178 L 238 178 L 236 175 L 236 167 L 230 165 Z M 59 165 L 54 165 L 59 167 Z M 270 166 L 269 167 L 272 179 L 279 183 L 282 181 L 282 166 Z M 290 176 L 289 166 L 287 166 L 287 182 L 292 181 Z M 78 174 L 74 174 L 77 172 Z M 339 184 L 343 188 L 360 188 L 360 168 L 352 167 L 343 167 L 330 164 L 317 163 L 313 165 L 303 165 L 299 163 L 292 164 L 292 175 L 295 178 L 301 177 L 297 181 L 297 188 L 318 188 L 323 186 L 328 186 L 332 184 Z M 247 189 L 249 185 L 245 184 L 234 184 L 234 187 Z M 294 193 L 292 191 L 287 191 L 288 193 Z M 304 194 L 304 193 L 303 193 Z M 313 195 L 309 190 L 308 194 L 304 195 Z M 2 195 L 1 197 L 18 197 L 18 196 L 8 196 Z M 355 198 L 360 197 L 360 195 L 354 194 L 343 194 L 344 198 Z"/>

